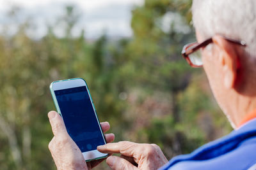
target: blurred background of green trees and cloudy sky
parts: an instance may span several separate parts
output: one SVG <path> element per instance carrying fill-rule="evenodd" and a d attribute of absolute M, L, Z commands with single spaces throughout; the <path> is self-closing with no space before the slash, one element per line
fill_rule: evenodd
<path fill-rule="evenodd" d="M 191 0 L 0 1 L 0 169 L 56 169 L 47 113 L 54 80 L 84 78 L 115 141 L 168 159 L 232 131 L 203 69 Z M 109 169 L 106 163 L 96 169 Z"/>

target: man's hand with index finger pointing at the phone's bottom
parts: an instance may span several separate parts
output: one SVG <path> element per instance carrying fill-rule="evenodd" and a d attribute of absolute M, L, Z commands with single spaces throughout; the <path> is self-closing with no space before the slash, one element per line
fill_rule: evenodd
<path fill-rule="evenodd" d="M 168 162 L 156 144 L 139 144 L 129 141 L 108 143 L 98 146 L 102 153 L 121 153 L 121 157 L 111 156 L 107 164 L 111 169 L 158 169 Z"/>

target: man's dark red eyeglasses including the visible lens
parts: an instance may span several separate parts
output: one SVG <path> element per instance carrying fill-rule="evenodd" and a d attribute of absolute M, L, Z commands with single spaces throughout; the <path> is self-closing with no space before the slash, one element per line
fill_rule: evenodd
<path fill-rule="evenodd" d="M 221 37 L 223 37 L 230 43 L 246 46 L 246 43 L 244 41 L 237 41 L 234 39 L 227 38 L 225 36 L 221 36 Z M 206 39 L 202 43 L 198 43 L 198 42 L 189 43 L 183 47 L 181 52 L 182 56 L 184 57 L 184 59 L 186 59 L 186 61 L 191 67 L 202 67 L 203 66 L 202 55 L 199 49 L 209 45 L 210 43 L 212 43 L 212 38 Z"/>

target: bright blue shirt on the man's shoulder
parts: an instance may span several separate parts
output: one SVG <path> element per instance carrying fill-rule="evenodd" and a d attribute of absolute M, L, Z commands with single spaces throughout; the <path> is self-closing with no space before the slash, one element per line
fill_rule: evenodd
<path fill-rule="evenodd" d="M 256 169 L 256 118 L 190 154 L 173 157 L 160 169 Z"/>

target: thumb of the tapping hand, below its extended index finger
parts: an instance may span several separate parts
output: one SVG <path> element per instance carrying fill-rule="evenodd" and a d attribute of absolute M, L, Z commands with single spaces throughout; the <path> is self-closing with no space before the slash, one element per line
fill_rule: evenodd
<path fill-rule="evenodd" d="M 108 157 L 106 162 L 108 166 L 114 170 L 123 170 L 123 169 L 138 170 L 136 166 L 132 165 L 129 161 L 122 159 L 120 157 L 110 156 Z"/>

